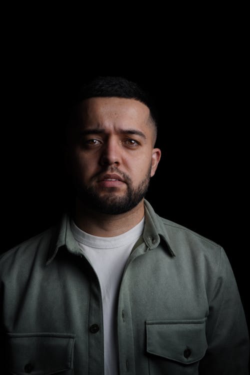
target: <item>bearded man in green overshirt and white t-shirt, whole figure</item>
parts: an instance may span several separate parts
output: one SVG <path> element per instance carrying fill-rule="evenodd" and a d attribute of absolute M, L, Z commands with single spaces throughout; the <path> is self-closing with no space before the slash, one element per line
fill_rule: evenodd
<path fill-rule="evenodd" d="M 247 373 L 224 250 L 144 199 L 156 132 L 135 83 L 97 77 L 83 87 L 66 129 L 75 209 L 0 259 L 7 373 Z"/>

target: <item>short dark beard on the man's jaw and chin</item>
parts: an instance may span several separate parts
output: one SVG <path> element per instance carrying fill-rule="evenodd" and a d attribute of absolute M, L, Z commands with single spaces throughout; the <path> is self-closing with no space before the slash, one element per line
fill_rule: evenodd
<path fill-rule="evenodd" d="M 150 181 L 151 166 L 137 187 L 133 187 L 130 177 L 119 169 L 113 168 L 108 172 L 117 172 L 126 181 L 127 189 L 122 196 L 116 194 L 116 187 L 105 187 L 103 188 L 105 193 L 100 195 L 92 185 L 85 186 L 81 184 L 81 186 L 79 186 L 77 184 L 77 197 L 91 210 L 100 213 L 117 215 L 134 208 L 147 192 Z"/>

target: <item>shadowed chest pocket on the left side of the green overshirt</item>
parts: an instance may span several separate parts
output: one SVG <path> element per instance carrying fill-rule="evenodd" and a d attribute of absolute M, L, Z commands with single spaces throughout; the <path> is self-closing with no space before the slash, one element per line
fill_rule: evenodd
<path fill-rule="evenodd" d="M 72 374 L 75 336 L 67 333 L 7 333 L 6 372 L 14 375 Z"/>

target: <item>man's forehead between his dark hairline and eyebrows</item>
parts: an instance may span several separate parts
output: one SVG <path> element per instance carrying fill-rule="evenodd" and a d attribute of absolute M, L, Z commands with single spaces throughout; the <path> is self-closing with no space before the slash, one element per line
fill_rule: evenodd
<path fill-rule="evenodd" d="M 143 125 L 149 123 L 148 107 L 135 99 L 91 97 L 78 106 L 80 124 L 87 126 Z"/>

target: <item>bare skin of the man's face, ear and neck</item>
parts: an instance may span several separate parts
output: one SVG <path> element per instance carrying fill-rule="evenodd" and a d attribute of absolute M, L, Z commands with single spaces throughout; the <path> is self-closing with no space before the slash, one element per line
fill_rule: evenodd
<path fill-rule="evenodd" d="M 105 203 L 124 200 L 129 191 L 146 188 L 161 154 L 154 148 L 149 109 L 134 99 L 93 97 L 78 106 L 76 117 L 67 155 L 78 191 L 75 223 L 97 236 L 121 234 L 142 219 L 143 197 L 128 211 L 110 214 L 93 206 L 89 198 L 84 200 L 81 187 L 89 187 Z"/>

